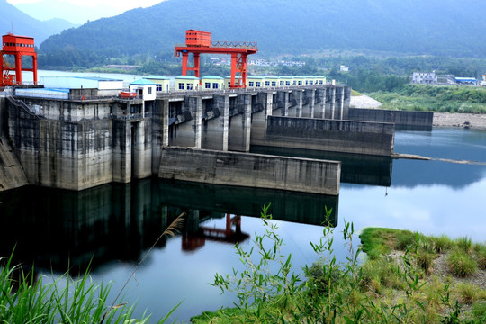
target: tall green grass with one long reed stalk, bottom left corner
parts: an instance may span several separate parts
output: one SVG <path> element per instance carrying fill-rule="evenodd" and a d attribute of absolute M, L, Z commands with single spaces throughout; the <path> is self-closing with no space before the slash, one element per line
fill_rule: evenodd
<path fill-rule="evenodd" d="M 13 265 L 13 254 L 8 259 L 0 257 L 0 265 L 3 265 L 0 266 L 0 323 L 147 323 L 149 316 L 132 318 L 133 305 L 129 307 L 127 303 L 116 302 L 158 240 L 165 235 L 174 236 L 183 217 L 184 213 L 179 215 L 148 249 L 112 304 L 107 303 L 112 284 L 94 284 L 88 270 L 77 280 L 66 274 L 53 283 L 44 284 L 42 276 L 37 277 L 33 269 L 25 272 L 23 267 Z M 66 279 L 66 285 L 61 284 L 63 279 Z M 157 323 L 166 322 L 179 305 Z"/>

